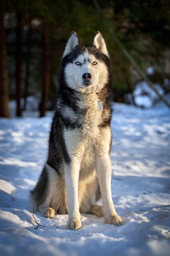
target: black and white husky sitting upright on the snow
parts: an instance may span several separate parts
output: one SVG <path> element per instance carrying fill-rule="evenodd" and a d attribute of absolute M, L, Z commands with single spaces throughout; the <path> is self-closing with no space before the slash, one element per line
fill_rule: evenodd
<path fill-rule="evenodd" d="M 48 218 L 68 214 L 68 229 L 82 227 L 80 213 L 122 222 L 111 193 L 111 83 L 102 34 L 97 31 L 90 45 L 82 45 L 72 32 L 62 57 L 48 159 L 31 191 L 35 211 Z"/>

